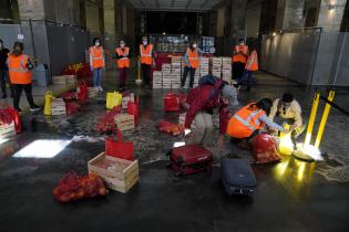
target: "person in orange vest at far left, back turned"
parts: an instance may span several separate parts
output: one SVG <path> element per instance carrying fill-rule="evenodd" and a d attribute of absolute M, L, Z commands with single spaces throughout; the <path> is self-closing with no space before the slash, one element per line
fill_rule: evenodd
<path fill-rule="evenodd" d="M 14 88 L 13 107 L 21 112 L 19 107 L 22 91 L 24 89 L 27 101 L 30 105 L 31 112 L 38 112 L 41 109 L 40 106 L 34 104 L 32 96 L 32 73 L 31 70 L 34 67 L 29 56 L 23 54 L 24 45 L 21 42 L 16 42 L 13 51 L 9 53 L 7 64 L 9 67 L 9 75 L 11 84 Z"/>

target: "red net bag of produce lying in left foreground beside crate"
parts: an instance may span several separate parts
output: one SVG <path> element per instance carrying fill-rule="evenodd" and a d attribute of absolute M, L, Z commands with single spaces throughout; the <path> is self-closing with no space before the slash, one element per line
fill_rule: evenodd
<path fill-rule="evenodd" d="M 105 194 L 107 194 L 107 190 L 103 180 L 92 173 L 79 177 L 75 172 L 69 172 L 53 189 L 53 198 L 64 203 L 82 198 L 93 198 Z"/>

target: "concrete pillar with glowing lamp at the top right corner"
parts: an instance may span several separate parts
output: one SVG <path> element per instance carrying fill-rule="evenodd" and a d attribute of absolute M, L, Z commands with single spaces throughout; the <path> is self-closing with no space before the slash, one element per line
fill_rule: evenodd
<path fill-rule="evenodd" d="M 338 32 L 346 3 L 346 0 L 321 0 L 317 27 L 321 27 L 325 32 Z"/>

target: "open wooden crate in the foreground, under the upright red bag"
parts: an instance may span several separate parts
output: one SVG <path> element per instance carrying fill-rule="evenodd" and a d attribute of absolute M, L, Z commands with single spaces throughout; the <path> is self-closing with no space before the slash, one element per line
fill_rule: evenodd
<path fill-rule="evenodd" d="M 126 193 L 138 181 L 138 161 L 100 154 L 89 161 L 89 172 L 100 176 L 107 188 Z"/>

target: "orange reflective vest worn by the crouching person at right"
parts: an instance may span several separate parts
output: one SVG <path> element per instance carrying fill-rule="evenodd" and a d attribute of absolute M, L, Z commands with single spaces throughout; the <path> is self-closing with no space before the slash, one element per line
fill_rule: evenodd
<path fill-rule="evenodd" d="M 234 138 L 248 138 L 256 129 L 263 127 L 264 123 L 258 118 L 266 114 L 263 109 L 250 109 L 248 104 L 238 110 L 230 119 L 226 134 Z"/>

